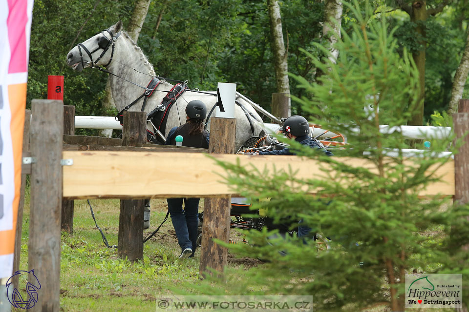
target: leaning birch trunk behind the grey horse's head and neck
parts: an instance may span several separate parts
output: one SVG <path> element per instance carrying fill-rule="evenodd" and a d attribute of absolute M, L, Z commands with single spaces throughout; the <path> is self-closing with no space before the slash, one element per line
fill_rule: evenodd
<path fill-rule="evenodd" d="M 135 42 L 137 42 L 138 36 L 140 35 L 140 30 L 142 30 L 143 22 L 145 21 L 145 18 L 147 17 L 149 5 L 150 5 L 150 0 L 137 0 L 135 3 L 135 8 L 133 9 L 132 17 L 130 18 L 130 23 L 127 28 L 128 35 Z M 109 82 L 109 78 L 107 78 L 105 90 L 106 90 L 106 97 L 103 100 L 103 106 L 106 109 L 112 109 L 116 106 L 114 104 L 114 99 L 112 98 L 111 85 Z M 110 135 L 109 135 L 109 130 L 104 129 L 101 132 L 101 135 L 104 137 L 111 137 L 112 130 L 110 131 Z"/>

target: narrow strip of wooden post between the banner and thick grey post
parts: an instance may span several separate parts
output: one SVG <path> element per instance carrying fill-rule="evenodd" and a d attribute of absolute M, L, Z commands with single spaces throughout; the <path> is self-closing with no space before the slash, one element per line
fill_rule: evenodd
<path fill-rule="evenodd" d="M 26 110 L 24 113 L 24 128 L 23 128 L 23 157 L 29 156 L 29 129 L 31 126 L 31 111 Z M 21 232 L 23 225 L 23 208 L 24 208 L 24 191 L 26 190 L 26 172 L 21 172 L 21 188 L 20 188 L 20 203 L 18 205 L 18 217 L 16 219 L 16 233 L 15 233 L 15 253 L 13 256 L 13 272 L 20 270 L 20 255 L 21 255 Z M 13 285 L 18 287 L 19 276 L 13 277 Z"/>

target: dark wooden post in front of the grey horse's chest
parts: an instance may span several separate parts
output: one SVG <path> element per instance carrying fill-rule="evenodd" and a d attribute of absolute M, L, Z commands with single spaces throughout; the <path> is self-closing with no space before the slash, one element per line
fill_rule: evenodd
<path fill-rule="evenodd" d="M 147 143 L 145 112 L 124 112 L 122 146 L 142 146 Z M 126 164 L 122 164 L 125 166 Z M 130 261 L 143 258 L 143 211 L 145 199 L 121 199 L 119 213 L 118 255 Z"/>

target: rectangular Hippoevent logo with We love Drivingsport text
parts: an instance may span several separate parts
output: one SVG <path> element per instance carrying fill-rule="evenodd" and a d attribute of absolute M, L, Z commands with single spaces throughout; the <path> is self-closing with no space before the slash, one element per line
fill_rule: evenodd
<path fill-rule="evenodd" d="M 462 274 L 405 275 L 405 308 L 461 308 Z"/>

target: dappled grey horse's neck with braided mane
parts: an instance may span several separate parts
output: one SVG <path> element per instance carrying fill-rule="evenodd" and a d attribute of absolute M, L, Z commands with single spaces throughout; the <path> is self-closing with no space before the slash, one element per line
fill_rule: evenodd
<path fill-rule="evenodd" d="M 140 48 L 128 38 L 127 34 L 123 34 L 116 41 L 113 60 L 107 69 L 110 73 L 118 76 L 109 75 L 112 98 L 118 111 L 121 111 L 126 105 L 140 97 L 145 91 L 144 88 L 149 84 L 151 76 L 155 76 L 153 66 L 143 55 Z M 171 87 L 172 85 L 166 82 L 161 83 L 157 89 L 170 90 Z M 163 92 L 155 92 L 151 98 L 163 99 L 165 95 Z M 140 110 L 142 102 L 143 100 L 140 100 L 130 110 Z M 147 105 L 146 111 L 149 109 L 150 106 Z"/>

